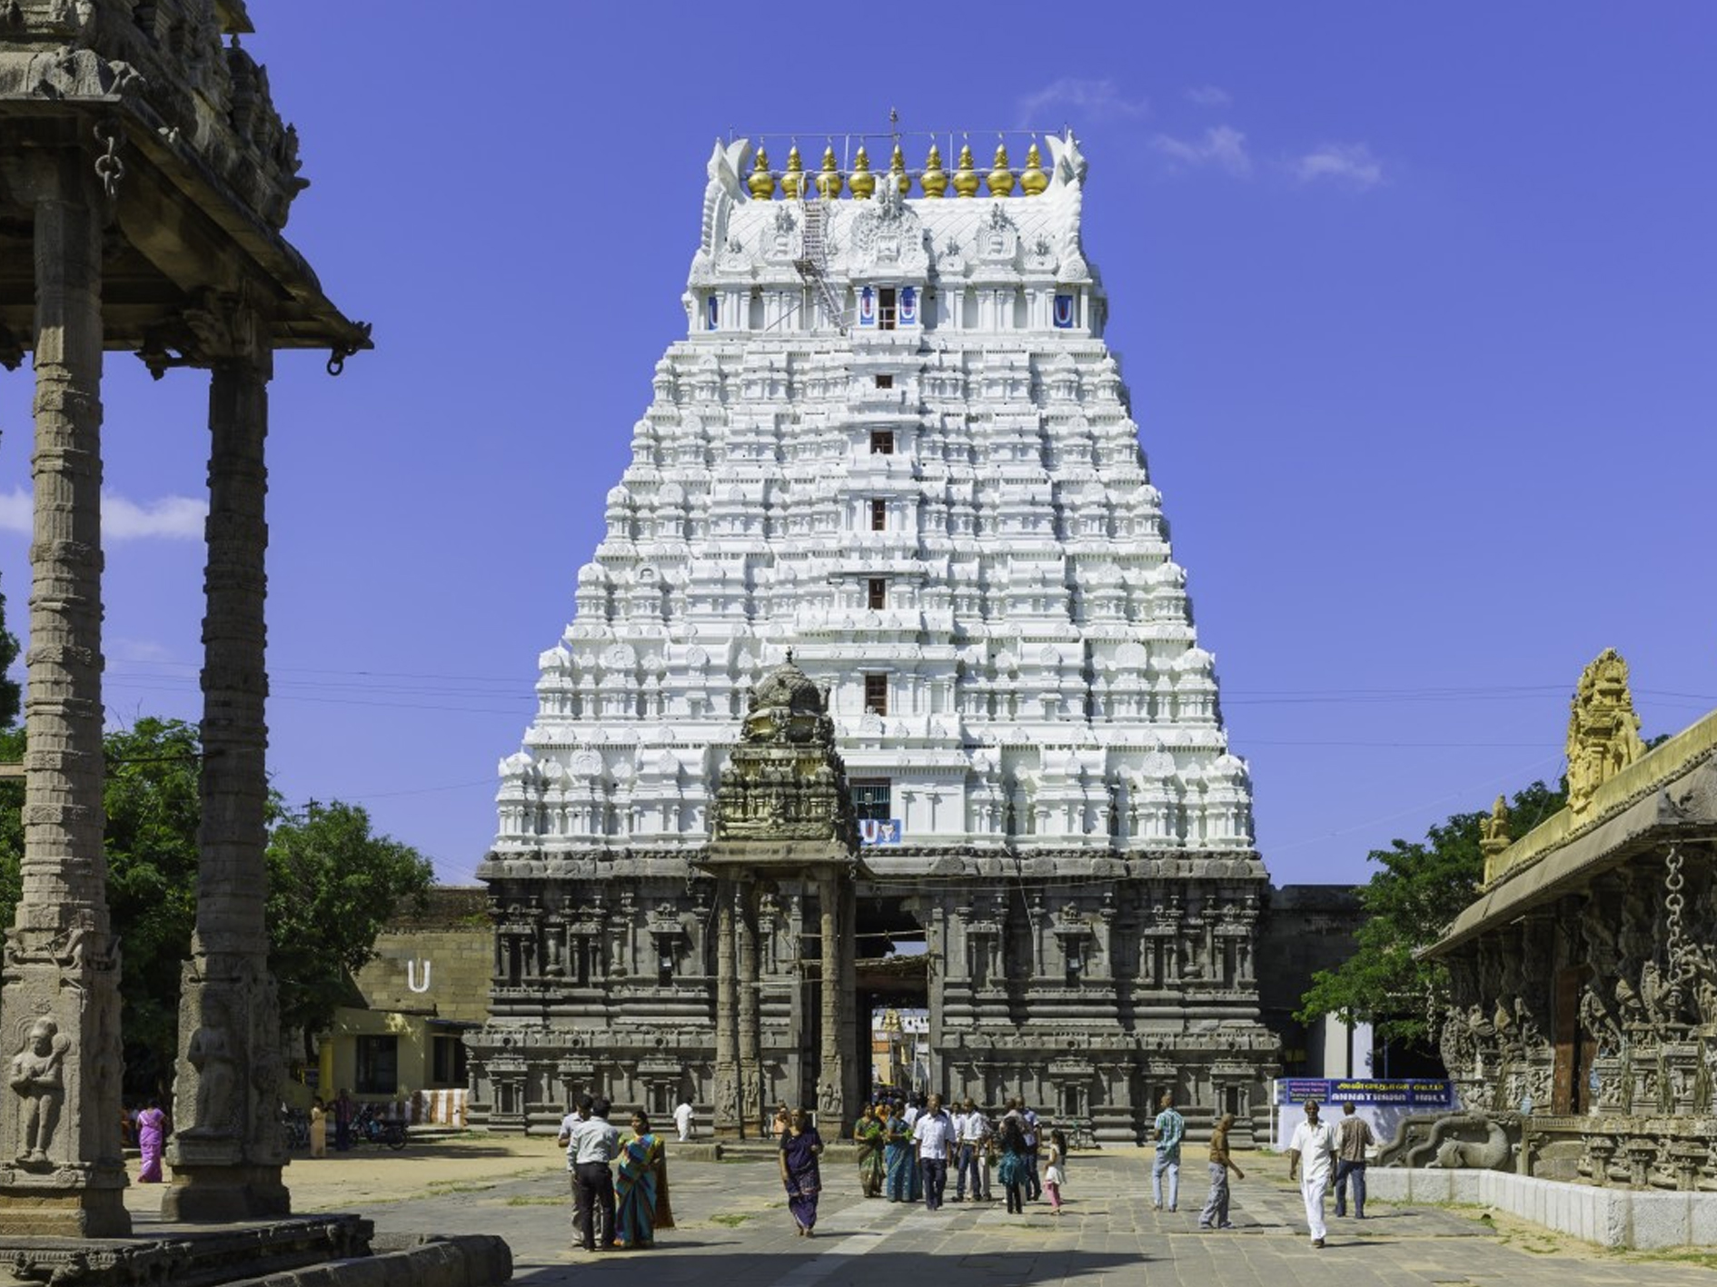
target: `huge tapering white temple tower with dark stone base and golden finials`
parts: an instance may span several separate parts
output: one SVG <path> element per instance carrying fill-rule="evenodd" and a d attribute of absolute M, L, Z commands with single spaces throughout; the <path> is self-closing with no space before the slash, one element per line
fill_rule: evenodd
<path fill-rule="evenodd" d="M 1245 1115 L 1276 1042 L 1264 867 L 1138 426 L 1102 341 L 1071 136 L 980 175 L 709 161 L 689 335 L 656 366 L 539 710 L 501 762 L 479 1117 L 713 1076 L 707 844 L 745 692 L 829 686 L 865 834 L 869 999 L 931 1009 L 936 1088 L 1133 1138 Z M 924 196 L 907 196 L 917 182 Z M 977 196 L 980 184 L 987 196 Z M 944 196 L 948 187 L 958 196 Z M 841 192 L 848 194 L 843 196 Z M 1015 194 L 1018 192 L 1018 194 Z M 807 1098 L 798 897 L 764 899 L 769 1100 Z M 898 946 L 898 944 L 896 944 Z"/>

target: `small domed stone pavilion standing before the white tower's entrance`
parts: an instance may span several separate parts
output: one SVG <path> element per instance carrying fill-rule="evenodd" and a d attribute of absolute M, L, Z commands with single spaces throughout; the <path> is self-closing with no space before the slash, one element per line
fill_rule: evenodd
<path fill-rule="evenodd" d="M 857 1102 L 853 877 L 858 825 L 834 750 L 828 698 L 802 669 L 769 671 L 750 692 L 738 745 L 716 789 L 714 839 L 699 867 L 716 877 L 716 1134 L 761 1134 L 764 1102 L 759 901 L 790 899 L 804 916 L 793 964 L 792 1031 L 816 1033 L 817 1124 L 840 1136 Z M 795 918 L 798 920 L 798 918 Z M 804 947 L 816 939 L 816 954 Z M 816 983 L 810 973 L 816 971 Z M 809 1004 L 816 995 L 816 1007 Z M 786 1045 L 781 1042 L 781 1045 Z M 812 1043 L 805 1042 L 804 1050 Z M 809 1055 L 805 1055 L 809 1057 Z"/>

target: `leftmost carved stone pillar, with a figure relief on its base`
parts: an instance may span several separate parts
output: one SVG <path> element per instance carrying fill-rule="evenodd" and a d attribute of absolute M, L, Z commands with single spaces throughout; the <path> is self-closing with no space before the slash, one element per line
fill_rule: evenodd
<path fill-rule="evenodd" d="M 118 946 L 101 808 L 101 218 L 81 153 L 34 206 L 36 489 L 22 896 L 0 990 L 0 1236 L 130 1232 L 118 1138 Z M 27 187 L 26 187 L 27 185 Z"/>

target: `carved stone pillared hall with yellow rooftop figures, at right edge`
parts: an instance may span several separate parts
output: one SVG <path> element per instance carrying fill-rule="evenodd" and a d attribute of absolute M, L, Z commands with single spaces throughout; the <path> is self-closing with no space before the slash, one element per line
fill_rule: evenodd
<path fill-rule="evenodd" d="M 1587 668 L 1568 808 L 1516 841 L 1501 801 L 1485 885 L 1430 949 L 1465 1112 L 1406 1165 L 1717 1189 L 1717 712 L 1647 752 L 1614 652 Z"/>

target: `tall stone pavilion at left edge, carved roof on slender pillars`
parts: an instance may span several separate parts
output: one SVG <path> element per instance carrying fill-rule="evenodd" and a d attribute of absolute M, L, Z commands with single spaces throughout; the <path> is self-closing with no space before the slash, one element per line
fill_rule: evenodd
<path fill-rule="evenodd" d="M 0 366 L 33 355 L 24 858 L 0 988 L 0 1237 L 113 1237 L 120 951 L 101 808 L 103 353 L 208 371 L 197 920 L 163 1215 L 282 1215 L 268 978 L 268 381 L 349 321 L 285 240 L 307 185 L 242 0 L 0 2 Z"/>

